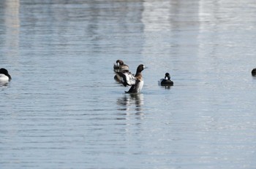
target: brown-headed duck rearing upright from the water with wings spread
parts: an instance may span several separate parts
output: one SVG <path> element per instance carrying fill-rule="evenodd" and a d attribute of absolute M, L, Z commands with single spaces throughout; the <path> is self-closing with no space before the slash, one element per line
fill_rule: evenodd
<path fill-rule="evenodd" d="M 131 86 L 129 91 L 125 93 L 140 93 L 144 84 L 141 73 L 144 68 L 145 66 L 140 64 L 137 68 L 135 76 L 129 71 L 118 72 L 118 75 L 121 76 L 121 83 L 124 84 L 125 87 L 127 87 L 127 85 Z"/>

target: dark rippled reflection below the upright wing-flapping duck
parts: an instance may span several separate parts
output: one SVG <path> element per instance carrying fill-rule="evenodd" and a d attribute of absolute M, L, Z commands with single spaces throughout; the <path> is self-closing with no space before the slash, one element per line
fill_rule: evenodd
<path fill-rule="evenodd" d="M 125 94 L 123 97 L 118 98 L 117 104 L 121 106 L 122 111 L 133 111 L 135 110 L 135 114 L 141 114 L 142 106 L 143 106 L 143 94 L 135 93 L 135 94 Z"/>

